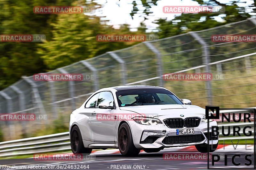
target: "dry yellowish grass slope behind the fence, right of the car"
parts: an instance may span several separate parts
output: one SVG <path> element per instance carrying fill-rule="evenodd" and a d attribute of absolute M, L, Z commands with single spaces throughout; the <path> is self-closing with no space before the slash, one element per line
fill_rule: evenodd
<path fill-rule="evenodd" d="M 239 68 L 239 66 L 236 67 Z M 204 70 L 200 71 L 203 72 Z M 223 71 L 221 74 L 224 75 L 223 80 L 210 81 L 212 85 L 212 105 L 220 106 L 220 108 L 255 107 L 255 91 L 253 91 L 255 89 L 255 67 L 251 68 L 250 73 L 241 69 Z M 208 105 L 204 81 L 164 81 L 164 87 L 171 90 L 180 99 L 191 100 L 193 105 L 203 108 Z"/>

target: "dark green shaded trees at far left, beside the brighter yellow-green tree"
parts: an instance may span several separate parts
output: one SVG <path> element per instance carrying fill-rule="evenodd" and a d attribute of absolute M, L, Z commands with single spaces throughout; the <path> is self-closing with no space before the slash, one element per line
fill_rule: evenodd
<path fill-rule="evenodd" d="M 1 34 L 45 34 L 51 39 L 57 15 L 34 14 L 34 6 L 70 5 L 71 0 L 0 0 Z M 0 43 L 0 89 L 15 83 L 21 76 L 44 72 L 46 66 L 37 54 L 40 42 Z"/>

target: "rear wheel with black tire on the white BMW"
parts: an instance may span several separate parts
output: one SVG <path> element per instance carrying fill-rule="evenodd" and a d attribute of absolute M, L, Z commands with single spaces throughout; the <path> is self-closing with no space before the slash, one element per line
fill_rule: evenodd
<path fill-rule="evenodd" d="M 82 135 L 77 126 L 72 128 L 70 133 L 71 150 L 74 154 L 83 154 L 83 156 L 90 155 L 92 149 L 84 148 Z"/>

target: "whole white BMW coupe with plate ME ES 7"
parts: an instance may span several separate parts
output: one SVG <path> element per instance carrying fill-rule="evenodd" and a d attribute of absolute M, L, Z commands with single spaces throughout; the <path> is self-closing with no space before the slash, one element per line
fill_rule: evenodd
<path fill-rule="evenodd" d="M 119 148 L 122 155 L 140 150 L 159 152 L 167 147 L 195 145 L 207 152 L 205 109 L 179 99 L 156 86 L 132 85 L 103 88 L 94 92 L 70 115 L 73 153 L 90 154 L 92 149 Z M 218 137 L 209 133 L 210 152 Z"/>

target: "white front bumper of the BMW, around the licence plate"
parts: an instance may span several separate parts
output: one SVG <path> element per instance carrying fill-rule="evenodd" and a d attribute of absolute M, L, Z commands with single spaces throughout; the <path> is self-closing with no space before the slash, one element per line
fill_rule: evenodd
<path fill-rule="evenodd" d="M 206 134 L 207 123 L 206 122 L 200 122 L 199 126 L 194 128 L 194 134 L 191 134 L 191 135 L 176 135 L 176 129 L 188 129 L 188 128 L 186 127 L 168 128 L 164 123 L 157 124 L 157 125 L 141 125 L 139 123 L 136 123 L 135 121 L 129 121 L 129 124 L 132 131 L 133 143 L 135 147 L 138 149 L 167 148 L 167 147 L 188 146 L 188 145 L 196 145 L 196 144 L 207 144 L 207 134 Z M 216 121 L 210 122 L 210 127 L 211 126 L 217 126 L 217 122 Z M 196 135 L 196 136 L 193 136 L 193 135 Z M 175 142 L 174 142 L 174 139 L 175 139 Z M 218 139 L 209 140 L 209 143 L 217 144 Z"/>

